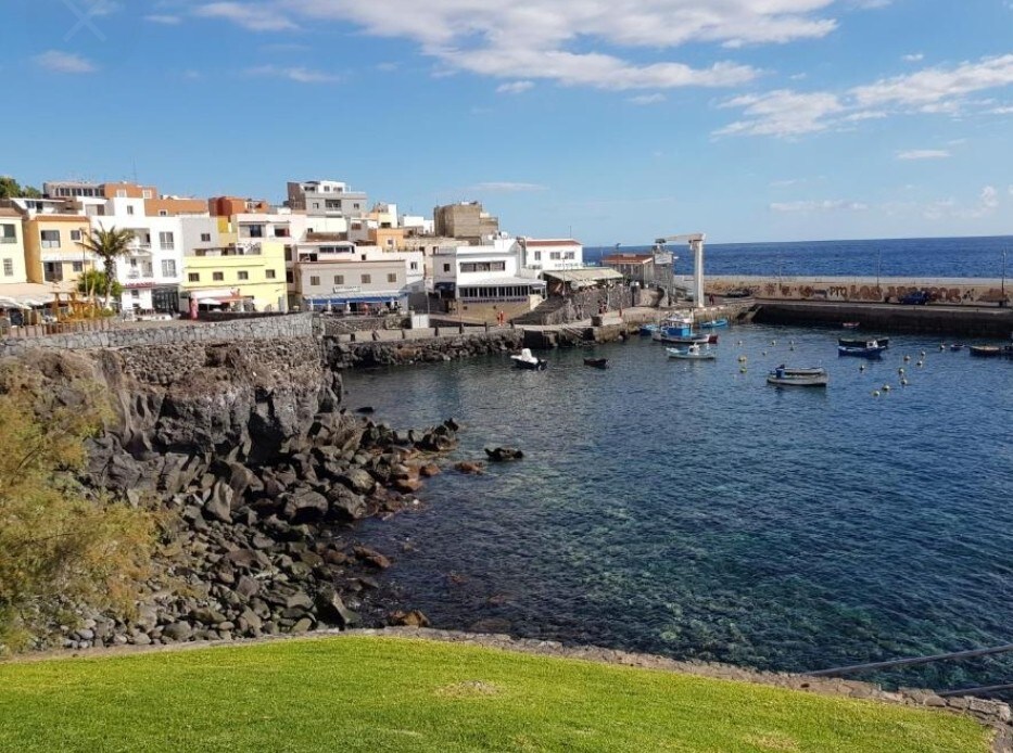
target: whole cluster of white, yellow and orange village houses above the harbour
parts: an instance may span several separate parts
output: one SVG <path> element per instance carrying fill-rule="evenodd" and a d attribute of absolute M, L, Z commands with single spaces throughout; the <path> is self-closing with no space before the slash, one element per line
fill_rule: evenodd
<path fill-rule="evenodd" d="M 81 241 L 129 229 L 117 260 L 118 302 L 137 316 L 200 310 L 378 308 L 495 320 L 545 297 L 545 276 L 583 266 L 572 239 L 514 238 L 478 202 L 433 218 L 368 205 L 337 180 L 290 181 L 282 206 L 236 196 L 163 195 L 131 182 L 52 181 L 42 199 L 0 200 L 0 309 L 42 309 L 103 270 Z"/>

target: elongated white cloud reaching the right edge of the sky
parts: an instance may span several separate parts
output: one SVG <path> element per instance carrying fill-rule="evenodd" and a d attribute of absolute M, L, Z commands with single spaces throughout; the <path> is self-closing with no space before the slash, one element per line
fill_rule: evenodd
<path fill-rule="evenodd" d="M 1006 114 L 993 99 L 968 97 L 1013 85 L 1013 54 L 983 58 L 950 68 L 930 67 L 859 86 L 844 92 L 777 90 L 736 97 L 723 107 L 742 107 L 744 119 L 716 131 L 717 136 L 815 133 L 845 124 L 904 113 L 967 117 L 978 113 Z"/>

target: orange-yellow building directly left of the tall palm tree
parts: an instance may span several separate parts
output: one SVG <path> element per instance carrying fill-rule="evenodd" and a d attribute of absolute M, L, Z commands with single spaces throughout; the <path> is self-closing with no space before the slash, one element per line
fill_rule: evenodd
<path fill-rule="evenodd" d="M 24 220 L 25 276 L 29 282 L 46 282 L 54 291 L 72 291 L 77 278 L 96 267 L 93 254 L 80 242 L 91 226 L 83 215 L 33 215 Z"/>

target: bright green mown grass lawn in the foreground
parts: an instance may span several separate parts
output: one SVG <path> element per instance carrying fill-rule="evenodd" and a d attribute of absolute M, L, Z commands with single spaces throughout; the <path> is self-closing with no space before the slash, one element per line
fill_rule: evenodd
<path fill-rule="evenodd" d="M 375 637 L 0 664 L 0 751 L 988 750 L 945 713 Z"/>

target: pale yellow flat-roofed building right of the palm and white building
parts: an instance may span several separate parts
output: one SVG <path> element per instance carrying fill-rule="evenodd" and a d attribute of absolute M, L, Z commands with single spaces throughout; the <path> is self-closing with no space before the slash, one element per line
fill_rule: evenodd
<path fill-rule="evenodd" d="M 187 248 L 179 297 L 182 310 L 190 309 L 191 299 L 205 309 L 286 310 L 284 244 L 265 240 Z"/>

